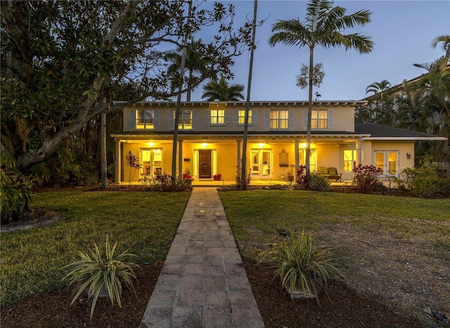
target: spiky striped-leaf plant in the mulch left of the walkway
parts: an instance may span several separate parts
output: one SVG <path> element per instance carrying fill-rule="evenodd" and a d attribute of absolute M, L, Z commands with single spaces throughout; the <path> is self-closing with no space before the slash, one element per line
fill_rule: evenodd
<path fill-rule="evenodd" d="M 81 259 L 63 267 L 63 269 L 73 268 L 63 280 L 68 279 L 69 285 L 78 284 L 77 294 L 75 294 L 70 305 L 86 290 L 89 298 L 94 296 L 91 306 L 91 317 L 94 314 L 97 299 L 101 296 L 102 292 L 105 294 L 108 292 L 108 295 L 105 296 L 110 298 L 112 304 L 114 304 L 114 301 L 117 301 L 120 307 L 122 307 L 120 301 L 122 283 L 126 284 L 136 294 L 132 278 L 134 280 L 137 279 L 133 267 L 139 267 L 139 265 L 122 261 L 125 258 L 137 256 L 128 254 L 127 251 L 115 256 L 114 252 L 116 247 L 117 242 L 111 248 L 110 241 L 106 237 L 105 254 L 95 244 L 94 251 L 90 251 L 90 253 L 78 251 Z"/>

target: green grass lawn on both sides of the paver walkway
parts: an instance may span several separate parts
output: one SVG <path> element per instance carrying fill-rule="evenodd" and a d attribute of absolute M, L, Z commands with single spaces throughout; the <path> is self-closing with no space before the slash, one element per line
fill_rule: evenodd
<path fill-rule="evenodd" d="M 91 249 L 94 243 L 103 247 L 106 235 L 118 243 L 117 251 L 129 249 L 138 255 L 138 263 L 164 260 L 189 195 L 84 191 L 34 195 L 34 209 L 58 211 L 65 221 L 51 228 L 1 233 L 1 304 L 63 287 L 66 272 L 60 268 L 78 258 L 77 250 Z M 244 258 L 255 259 L 264 245 L 278 242 L 277 229 L 317 232 L 319 242 L 327 243 L 328 232 L 323 231 L 329 227 L 401 240 L 420 238 L 421 247 L 450 258 L 449 199 L 297 190 L 220 192 L 220 197 Z M 344 258 L 355 256 L 349 251 L 352 245 L 348 247 L 335 252 Z M 347 263 L 351 260 L 346 258 Z"/>

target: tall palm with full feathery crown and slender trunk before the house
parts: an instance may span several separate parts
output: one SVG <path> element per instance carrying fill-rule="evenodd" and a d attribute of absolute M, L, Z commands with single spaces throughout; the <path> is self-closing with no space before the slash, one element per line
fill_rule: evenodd
<path fill-rule="evenodd" d="M 345 15 L 345 8 L 333 7 L 334 1 L 311 0 L 307 5 L 304 22 L 300 20 L 279 20 L 272 25 L 269 44 L 282 43 L 287 46 L 307 46 L 309 48 L 309 96 L 307 123 L 307 156 L 306 173 L 309 178 L 309 154 L 311 152 L 311 112 L 313 94 L 314 48 L 344 46 L 345 49 L 356 48 L 359 53 L 370 53 L 373 42 L 370 38 L 358 33 L 342 34 L 347 27 L 364 26 L 371 21 L 370 11 L 357 11 L 352 15 Z"/>

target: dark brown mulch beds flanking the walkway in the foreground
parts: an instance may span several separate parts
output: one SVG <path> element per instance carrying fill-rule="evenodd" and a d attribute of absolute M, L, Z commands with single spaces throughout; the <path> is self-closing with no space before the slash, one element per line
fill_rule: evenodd
<path fill-rule="evenodd" d="M 342 282 L 331 282 L 329 298 L 322 294 L 321 306 L 315 300 L 293 301 L 271 270 L 249 262 L 244 265 L 266 327 L 422 327 L 380 301 L 359 296 Z M 70 306 L 73 289 L 67 287 L 1 308 L 1 327 L 139 327 L 162 263 L 141 268 L 136 270 L 137 298 L 125 289 L 122 308 L 99 299 L 90 319 L 89 300 L 79 299 Z"/>

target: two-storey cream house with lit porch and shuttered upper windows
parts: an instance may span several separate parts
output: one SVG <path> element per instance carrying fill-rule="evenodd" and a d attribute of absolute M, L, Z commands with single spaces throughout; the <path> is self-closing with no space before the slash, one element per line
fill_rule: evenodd
<path fill-rule="evenodd" d="M 311 118 L 310 169 L 335 167 L 342 181 L 352 180 L 357 164 L 375 165 L 397 176 L 414 164 L 414 141 L 441 140 L 376 124 L 354 124 L 354 108 L 366 101 L 315 101 Z M 118 103 L 120 104 L 120 103 Z M 247 165 L 252 181 L 287 181 L 305 163 L 308 103 L 250 103 Z M 171 173 L 176 102 L 124 105 L 123 133 L 115 133 L 115 181 L 129 181 L 126 156 L 139 157 L 137 182 Z M 181 103 L 176 171 L 195 181 L 234 181 L 243 152 L 245 102 Z M 380 128 L 380 129 L 378 129 Z"/>

